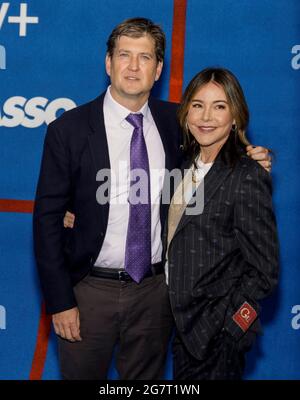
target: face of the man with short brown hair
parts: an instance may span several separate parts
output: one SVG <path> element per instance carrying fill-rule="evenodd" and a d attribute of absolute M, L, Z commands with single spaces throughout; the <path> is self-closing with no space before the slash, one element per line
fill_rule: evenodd
<path fill-rule="evenodd" d="M 148 36 L 121 36 L 116 41 L 113 56 L 106 56 L 106 72 L 111 80 L 111 95 L 127 108 L 133 102 L 143 105 L 162 71 L 157 62 L 154 40 Z"/>

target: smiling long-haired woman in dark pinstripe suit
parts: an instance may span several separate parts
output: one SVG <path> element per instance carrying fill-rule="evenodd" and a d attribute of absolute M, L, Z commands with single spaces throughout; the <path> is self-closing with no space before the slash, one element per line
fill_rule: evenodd
<path fill-rule="evenodd" d="M 278 280 L 271 177 L 246 154 L 249 112 L 230 71 L 198 73 L 178 115 L 188 159 L 165 234 L 174 378 L 241 379 L 258 301 Z"/>

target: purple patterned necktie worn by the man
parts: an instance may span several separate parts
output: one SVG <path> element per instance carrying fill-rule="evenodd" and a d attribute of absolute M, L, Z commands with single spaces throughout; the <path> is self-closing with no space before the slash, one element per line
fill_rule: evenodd
<path fill-rule="evenodd" d="M 130 171 L 144 170 L 147 182 L 141 187 L 141 202 L 133 200 L 137 188 L 131 176 L 129 191 L 129 222 L 125 250 L 125 270 L 132 279 L 140 283 L 151 266 L 151 200 L 150 171 L 147 147 L 143 133 L 143 114 L 129 114 L 126 117 L 133 127 L 130 143 Z M 143 180 L 142 180 L 143 181 Z"/>

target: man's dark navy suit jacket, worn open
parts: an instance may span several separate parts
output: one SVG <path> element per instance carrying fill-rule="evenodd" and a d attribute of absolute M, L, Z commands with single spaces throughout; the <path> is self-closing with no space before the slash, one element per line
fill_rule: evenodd
<path fill-rule="evenodd" d="M 47 130 L 33 215 L 34 247 L 48 313 L 76 306 L 73 286 L 94 265 L 105 237 L 109 204 L 96 201 L 99 170 L 110 168 L 103 116 L 104 94 L 65 112 Z M 149 99 L 164 151 L 165 168 L 181 163 L 177 105 Z M 161 206 L 161 223 L 168 205 Z M 73 229 L 63 228 L 67 210 Z"/>

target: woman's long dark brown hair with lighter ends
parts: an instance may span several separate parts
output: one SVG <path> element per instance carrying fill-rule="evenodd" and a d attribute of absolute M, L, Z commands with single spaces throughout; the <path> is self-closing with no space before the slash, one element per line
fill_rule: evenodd
<path fill-rule="evenodd" d="M 235 126 L 232 127 L 227 141 L 220 150 L 220 157 L 223 162 L 234 167 L 241 155 L 245 154 L 245 147 L 249 144 L 246 137 L 249 110 L 243 89 L 237 78 L 225 68 L 206 68 L 199 72 L 187 86 L 178 109 L 179 123 L 184 132 L 183 150 L 185 155 L 195 164 L 200 153 L 200 145 L 189 131 L 186 118 L 196 92 L 209 82 L 215 82 L 223 88 L 233 119 L 235 119 Z"/>

